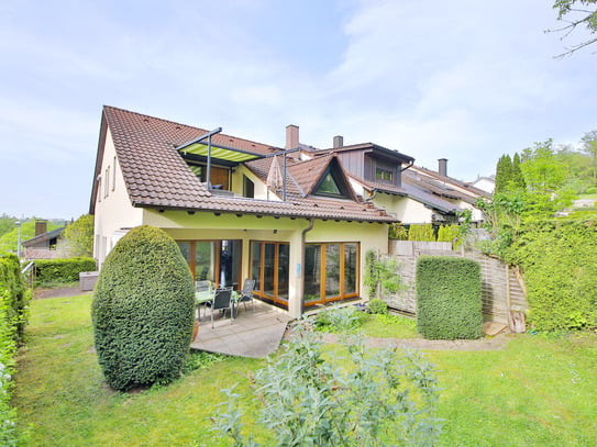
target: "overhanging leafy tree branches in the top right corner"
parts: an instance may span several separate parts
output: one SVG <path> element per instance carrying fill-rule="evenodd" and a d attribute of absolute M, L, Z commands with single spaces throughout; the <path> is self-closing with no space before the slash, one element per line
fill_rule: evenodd
<path fill-rule="evenodd" d="M 592 35 L 597 33 L 597 0 L 555 0 L 553 8 L 557 11 L 557 20 L 564 22 L 564 26 L 550 30 L 564 33 L 567 37 L 577 27 L 585 27 Z M 597 37 L 589 37 L 584 42 L 566 47 L 566 52 L 557 57 L 573 54 L 574 52 L 597 42 Z"/>

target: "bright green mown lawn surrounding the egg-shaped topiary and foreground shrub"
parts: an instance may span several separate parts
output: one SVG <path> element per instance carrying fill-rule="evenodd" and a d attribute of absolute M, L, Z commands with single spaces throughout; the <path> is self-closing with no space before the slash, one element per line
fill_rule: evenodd
<path fill-rule="evenodd" d="M 15 395 L 20 423 L 30 432 L 26 445 L 229 445 L 210 432 L 220 390 L 240 383 L 236 391 L 254 413 L 245 377 L 264 361 L 225 358 L 169 387 L 113 392 L 93 353 L 90 301 L 81 295 L 33 302 Z M 411 323 L 402 323 L 397 326 L 407 326 L 408 334 Z M 395 334 L 384 325 L 371 331 Z M 443 389 L 441 445 L 597 444 L 597 336 L 522 335 L 502 350 L 427 355 Z M 246 429 L 259 437 L 254 425 Z"/>

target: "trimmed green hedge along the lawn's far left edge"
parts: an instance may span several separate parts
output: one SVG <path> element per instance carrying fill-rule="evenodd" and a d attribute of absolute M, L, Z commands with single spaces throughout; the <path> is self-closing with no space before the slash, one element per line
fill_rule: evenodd
<path fill-rule="evenodd" d="M 16 411 L 10 400 L 14 383 L 16 346 L 26 324 L 31 292 L 21 275 L 19 259 L 0 254 L 0 445 L 19 445 Z"/>

